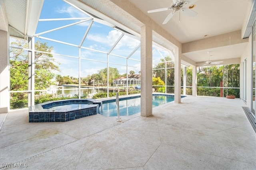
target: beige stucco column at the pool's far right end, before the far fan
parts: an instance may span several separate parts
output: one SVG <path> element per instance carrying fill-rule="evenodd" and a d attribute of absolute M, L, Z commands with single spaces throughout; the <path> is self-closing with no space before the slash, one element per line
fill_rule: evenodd
<path fill-rule="evenodd" d="M 180 103 L 180 92 L 181 92 L 181 57 L 179 55 L 179 49 L 175 49 L 174 53 L 174 103 Z"/>

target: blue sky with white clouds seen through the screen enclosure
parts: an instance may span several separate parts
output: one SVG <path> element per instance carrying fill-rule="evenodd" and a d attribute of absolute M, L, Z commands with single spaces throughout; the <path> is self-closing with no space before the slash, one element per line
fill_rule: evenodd
<path fill-rule="evenodd" d="M 44 0 L 44 5 L 40 15 L 41 21 L 38 22 L 36 29 L 36 35 L 40 36 L 41 38 L 36 37 L 35 41 L 39 40 L 41 42 L 47 42 L 48 46 L 53 46 L 54 50 L 52 53 L 54 53 L 53 56 L 56 60 L 56 64 L 60 63 L 58 66 L 61 70 L 61 72 L 54 73 L 60 74 L 62 76 L 73 76 L 78 78 L 79 48 L 46 40 L 43 37 L 48 39 L 55 39 L 73 45 L 80 45 L 82 43 L 82 47 L 102 52 L 99 53 L 81 48 L 81 77 L 97 73 L 98 70 L 107 67 L 106 53 L 110 51 L 116 40 L 120 37 L 122 34 L 121 31 L 94 21 L 86 36 L 86 39 L 84 42 L 82 42 L 82 39 L 86 30 L 88 29 L 88 25 L 90 25 L 91 20 L 71 25 L 69 27 L 64 27 L 62 29 L 56 28 L 83 21 L 85 19 L 42 21 L 42 19 L 45 20 L 55 18 L 63 19 L 90 17 L 62 0 Z M 49 31 L 52 29 L 56 30 Z M 126 73 L 126 57 L 128 57 L 139 45 L 139 40 L 124 35 L 110 54 L 119 55 L 125 58 L 109 55 L 109 66 L 118 68 L 120 74 Z M 167 51 L 159 49 L 157 50 L 154 47 L 152 50 L 153 63 L 158 63 L 162 57 L 169 55 Z M 135 59 L 137 61 L 131 59 Z M 138 74 L 140 71 L 140 48 L 130 57 L 130 59 L 128 59 L 128 72 L 130 70 L 134 70 L 136 74 Z"/>

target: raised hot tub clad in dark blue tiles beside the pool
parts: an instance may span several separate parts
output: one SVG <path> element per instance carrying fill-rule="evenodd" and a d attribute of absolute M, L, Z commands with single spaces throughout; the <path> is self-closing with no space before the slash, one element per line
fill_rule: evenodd
<path fill-rule="evenodd" d="M 96 115 L 102 106 L 93 99 L 56 100 L 28 107 L 29 122 L 65 122 Z"/>

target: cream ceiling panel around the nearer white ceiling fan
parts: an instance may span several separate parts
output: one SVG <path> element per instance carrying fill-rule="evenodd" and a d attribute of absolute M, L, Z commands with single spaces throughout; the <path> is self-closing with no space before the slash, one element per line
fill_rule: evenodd
<path fill-rule="evenodd" d="M 196 17 L 187 16 L 179 11 L 172 19 L 162 22 L 172 10 L 147 13 L 148 10 L 170 7 L 172 0 L 130 0 L 142 12 L 161 25 L 181 43 L 212 37 L 242 29 L 250 0 L 198 0 L 193 10 Z M 146 3 L 145 3 L 146 2 Z"/>

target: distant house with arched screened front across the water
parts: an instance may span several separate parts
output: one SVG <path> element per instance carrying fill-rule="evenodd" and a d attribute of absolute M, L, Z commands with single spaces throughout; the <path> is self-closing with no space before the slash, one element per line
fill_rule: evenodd
<path fill-rule="evenodd" d="M 114 86 L 126 86 L 126 84 L 130 86 L 135 86 L 140 84 L 140 74 L 132 74 L 128 75 L 128 79 L 126 76 L 118 77 L 114 80 Z"/>

